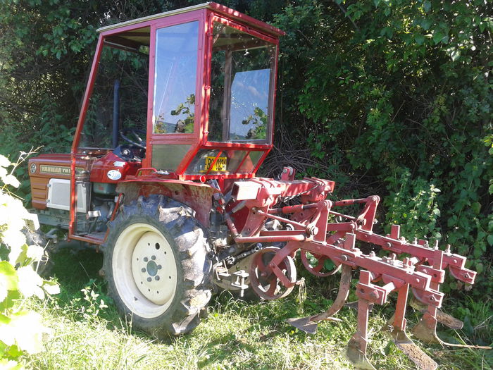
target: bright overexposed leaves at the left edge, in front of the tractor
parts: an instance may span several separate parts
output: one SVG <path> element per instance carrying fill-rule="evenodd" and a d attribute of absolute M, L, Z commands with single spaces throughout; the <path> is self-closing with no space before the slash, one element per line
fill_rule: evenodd
<path fill-rule="evenodd" d="M 41 316 L 25 309 L 28 297 L 44 299 L 45 293 L 56 294 L 58 285 L 43 280 L 32 264 L 40 261 L 44 250 L 39 245 L 27 245 L 23 229 L 30 215 L 22 202 L 8 191 L 7 186 L 20 183 L 8 173 L 11 164 L 0 155 L 0 367 L 21 369 L 25 354 L 42 350 L 42 335 L 48 329 Z M 18 165 L 18 164 L 16 164 Z"/>

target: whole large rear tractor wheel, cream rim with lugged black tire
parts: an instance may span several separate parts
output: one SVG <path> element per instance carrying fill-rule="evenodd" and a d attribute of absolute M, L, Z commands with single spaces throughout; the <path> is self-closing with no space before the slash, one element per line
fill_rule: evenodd
<path fill-rule="evenodd" d="M 104 244 L 104 273 L 118 311 L 157 338 L 192 331 L 211 299 L 204 230 L 188 206 L 163 196 L 122 208 Z"/>

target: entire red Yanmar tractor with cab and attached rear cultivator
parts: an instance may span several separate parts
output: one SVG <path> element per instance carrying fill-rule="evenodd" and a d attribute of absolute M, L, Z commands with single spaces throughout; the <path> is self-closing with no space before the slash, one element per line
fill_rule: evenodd
<path fill-rule="evenodd" d="M 327 200 L 335 183 L 294 180 L 292 168 L 277 180 L 256 177 L 273 147 L 284 32 L 215 3 L 98 32 L 70 154 L 29 161 L 32 205 L 40 223 L 100 247 L 109 293 L 136 328 L 158 337 L 191 331 L 214 286 L 285 297 L 297 285 L 299 256 L 316 276 L 342 273 L 335 304 L 294 326 L 313 332 L 331 319 L 361 268 L 349 358 L 370 366 L 370 307 L 397 292 L 387 331 L 420 366 L 436 366 L 406 337 L 408 292 L 424 312 L 413 332 L 438 340 L 439 285 L 445 269 L 472 284 L 466 258 L 407 241 L 399 226 L 373 233 L 377 196 Z M 350 204 L 361 212 L 336 211 Z M 366 254 L 356 240 L 389 254 Z"/>

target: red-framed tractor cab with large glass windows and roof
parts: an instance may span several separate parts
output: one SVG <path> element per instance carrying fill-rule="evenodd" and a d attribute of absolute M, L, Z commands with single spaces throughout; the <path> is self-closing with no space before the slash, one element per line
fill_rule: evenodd
<path fill-rule="evenodd" d="M 215 3 L 98 31 L 73 143 L 103 169 L 92 182 L 254 176 L 272 147 L 282 31 Z"/>

